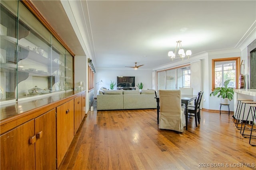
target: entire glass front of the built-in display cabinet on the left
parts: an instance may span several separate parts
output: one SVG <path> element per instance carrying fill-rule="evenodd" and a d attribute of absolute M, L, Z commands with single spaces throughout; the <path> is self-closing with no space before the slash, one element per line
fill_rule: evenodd
<path fill-rule="evenodd" d="M 72 55 L 21 1 L 0 4 L 0 101 L 73 90 Z"/>

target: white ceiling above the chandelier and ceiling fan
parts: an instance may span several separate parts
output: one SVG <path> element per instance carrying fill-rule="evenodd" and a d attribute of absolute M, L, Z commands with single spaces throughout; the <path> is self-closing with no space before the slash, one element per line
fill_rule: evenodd
<path fill-rule="evenodd" d="M 89 55 L 96 69 L 132 69 L 125 66 L 135 62 L 152 69 L 170 62 L 167 53 L 178 40 L 193 57 L 239 48 L 255 35 L 255 0 L 32 1 L 72 51 Z"/>

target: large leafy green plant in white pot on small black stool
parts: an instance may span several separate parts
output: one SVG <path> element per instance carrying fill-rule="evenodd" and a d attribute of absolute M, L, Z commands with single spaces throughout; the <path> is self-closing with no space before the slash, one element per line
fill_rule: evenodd
<path fill-rule="evenodd" d="M 228 100 L 233 99 L 234 91 L 233 88 L 228 87 L 228 83 L 230 80 L 226 80 L 223 84 L 224 87 L 217 87 L 210 93 L 210 96 L 216 96 L 218 94 L 218 98 L 220 98 L 221 104 L 228 104 Z"/>

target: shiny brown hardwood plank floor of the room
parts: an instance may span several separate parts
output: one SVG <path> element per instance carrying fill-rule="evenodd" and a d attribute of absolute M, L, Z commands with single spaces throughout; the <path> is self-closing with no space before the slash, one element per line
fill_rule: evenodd
<path fill-rule="evenodd" d="M 253 142 L 256 142 L 255 139 Z M 232 114 L 201 111 L 188 130 L 158 129 L 156 109 L 89 111 L 60 170 L 254 169 L 256 147 Z"/>

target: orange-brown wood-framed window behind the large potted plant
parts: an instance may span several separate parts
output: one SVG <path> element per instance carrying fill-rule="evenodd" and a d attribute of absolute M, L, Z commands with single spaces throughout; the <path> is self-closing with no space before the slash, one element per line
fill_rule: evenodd
<path fill-rule="evenodd" d="M 212 59 L 212 90 L 222 87 L 230 79 L 228 87 L 238 88 L 238 75 L 240 71 L 240 57 Z"/>

